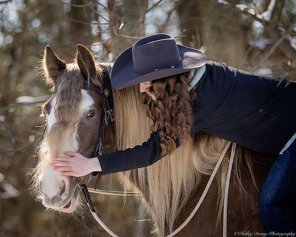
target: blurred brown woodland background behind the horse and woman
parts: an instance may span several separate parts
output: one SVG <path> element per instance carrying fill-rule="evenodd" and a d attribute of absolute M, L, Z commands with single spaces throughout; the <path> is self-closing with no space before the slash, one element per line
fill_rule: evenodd
<path fill-rule="evenodd" d="M 44 212 L 28 173 L 49 97 L 38 76 L 46 44 L 71 62 L 76 44 L 96 60 L 114 61 L 136 40 L 169 33 L 204 51 L 208 60 L 246 71 L 296 80 L 296 0 L 0 0 L 0 236 L 107 237 L 89 212 Z M 99 189 L 122 190 L 117 174 Z M 121 237 L 149 236 L 140 201 L 92 195 L 99 216 Z M 86 208 L 85 208 L 86 209 Z M 142 220 L 142 221 L 140 221 Z"/>

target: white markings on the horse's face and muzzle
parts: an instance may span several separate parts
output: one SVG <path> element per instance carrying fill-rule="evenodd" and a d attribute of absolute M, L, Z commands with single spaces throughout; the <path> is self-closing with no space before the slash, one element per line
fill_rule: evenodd
<path fill-rule="evenodd" d="M 54 97 L 51 100 L 51 111 L 49 112 L 47 116 L 47 133 L 50 132 L 52 126 L 56 123 L 57 118 L 55 116 L 55 110 L 56 110 L 56 97 Z M 85 116 L 85 113 L 89 110 L 89 108 L 94 104 L 94 100 L 92 97 L 87 93 L 86 90 L 81 90 L 81 100 L 79 102 L 79 116 Z M 61 149 L 59 151 L 58 156 L 65 156 L 63 152 L 65 151 L 78 151 L 78 143 L 77 143 L 77 123 L 75 123 L 75 126 L 70 128 L 69 130 L 65 131 L 65 134 L 63 136 L 63 141 L 59 141 L 61 144 Z M 49 148 L 50 149 L 50 148 Z M 50 156 L 50 150 L 49 154 Z M 61 200 L 65 200 L 69 198 L 69 187 L 70 187 L 70 178 L 69 176 L 63 176 L 58 171 L 53 170 L 53 168 L 49 165 L 51 162 L 51 158 L 48 159 L 48 164 L 46 164 L 42 174 L 39 177 L 39 181 L 41 181 L 41 189 L 43 195 L 45 195 L 46 198 L 43 198 L 43 204 L 46 207 L 51 208 L 61 208 L 62 206 L 59 206 L 61 203 L 53 203 L 52 200 L 54 200 L 55 197 L 60 195 Z M 61 192 L 64 191 L 64 193 L 61 195 Z M 72 197 L 71 197 L 72 198 Z M 70 198 L 70 199 L 71 199 Z M 49 201 L 50 200 L 50 201 Z M 62 201 L 61 201 L 62 202 Z M 69 209 L 74 210 L 75 203 L 71 203 L 71 207 Z M 61 210 L 63 211 L 63 210 Z M 69 211 L 69 210 L 68 210 Z"/>

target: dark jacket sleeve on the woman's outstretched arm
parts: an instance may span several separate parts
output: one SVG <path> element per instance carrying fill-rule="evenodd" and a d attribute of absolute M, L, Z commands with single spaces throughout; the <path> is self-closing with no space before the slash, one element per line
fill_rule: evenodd
<path fill-rule="evenodd" d="M 179 141 L 176 142 L 180 146 Z M 111 154 L 99 156 L 102 174 L 128 171 L 149 166 L 161 159 L 160 137 L 152 132 L 148 141 L 134 148 L 119 150 Z"/>

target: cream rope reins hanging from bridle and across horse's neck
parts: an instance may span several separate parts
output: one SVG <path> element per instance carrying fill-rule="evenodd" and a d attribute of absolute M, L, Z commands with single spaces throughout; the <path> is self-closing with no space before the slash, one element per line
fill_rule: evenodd
<path fill-rule="evenodd" d="M 195 213 L 197 212 L 197 210 L 199 209 L 201 203 L 203 202 L 204 198 L 206 197 L 212 182 L 218 172 L 219 167 L 221 166 L 222 160 L 225 157 L 226 152 L 228 151 L 228 148 L 230 147 L 231 142 L 228 141 L 224 150 L 222 151 L 222 154 L 213 170 L 213 173 L 207 183 L 207 186 L 204 190 L 204 192 L 202 193 L 199 201 L 197 202 L 196 206 L 194 207 L 193 211 L 190 213 L 190 215 L 187 217 L 187 219 L 182 223 L 181 226 L 179 226 L 175 231 L 173 231 L 171 234 L 169 234 L 166 237 L 173 237 L 175 236 L 178 232 L 180 232 L 187 224 L 188 222 L 192 219 L 192 217 L 195 215 Z M 227 237 L 227 204 L 228 204 L 228 191 L 229 191 L 229 183 L 230 183 L 230 176 L 231 176 L 231 170 L 232 170 L 232 165 L 233 165 L 233 160 L 234 160 L 234 154 L 235 154 L 235 148 L 236 148 L 236 143 L 232 143 L 232 147 L 231 147 L 231 153 L 230 153 L 230 158 L 229 158 L 229 164 L 228 164 L 228 170 L 227 170 L 227 176 L 226 176 L 226 184 L 225 184 L 225 194 L 224 194 L 224 205 L 223 205 L 223 237 Z M 88 193 L 88 189 L 86 187 L 85 184 L 79 185 L 78 187 L 82 189 L 83 194 L 85 196 L 86 199 L 86 203 L 89 207 L 89 210 L 91 212 L 91 214 L 93 215 L 93 217 L 95 218 L 95 220 L 104 228 L 105 231 L 108 232 L 109 235 L 111 235 L 112 237 L 119 237 L 117 236 L 114 232 L 112 232 L 105 224 L 104 222 L 98 217 L 97 213 L 96 213 L 96 209 L 93 207 L 92 202 L 91 202 L 91 198 L 89 196 Z M 106 192 L 106 191 L 103 191 Z M 112 191 L 108 191 L 107 193 L 110 194 L 110 192 Z M 93 192 L 93 190 L 91 190 L 91 193 L 95 193 Z M 98 192 L 99 193 L 99 192 Z M 117 194 L 115 195 L 124 195 L 124 192 L 115 192 Z M 121 193 L 121 194 L 119 194 Z M 130 192 L 133 193 L 133 195 L 135 195 L 138 192 Z M 106 194 L 106 193 L 104 193 Z M 129 195 L 128 195 L 129 196 Z"/>

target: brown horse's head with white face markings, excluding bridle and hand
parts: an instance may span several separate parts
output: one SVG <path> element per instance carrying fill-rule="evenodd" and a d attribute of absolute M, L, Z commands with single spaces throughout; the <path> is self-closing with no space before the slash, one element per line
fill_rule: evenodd
<path fill-rule="evenodd" d="M 47 129 L 39 147 L 35 188 L 45 207 L 73 212 L 79 202 L 77 177 L 62 176 L 49 163 L 53 156 L 64 156 L 65 151 L 92 156 L 103 119 L 103 97 L 95 90 L 83 89 L 83 82 L 101 86 L 102 77 L 108 74 L 82 45 L 77 45 L 76 58 L 71 64 L 66 64 L 46 46 L 43 71 L 53 94 L 42 107 Z"/>

